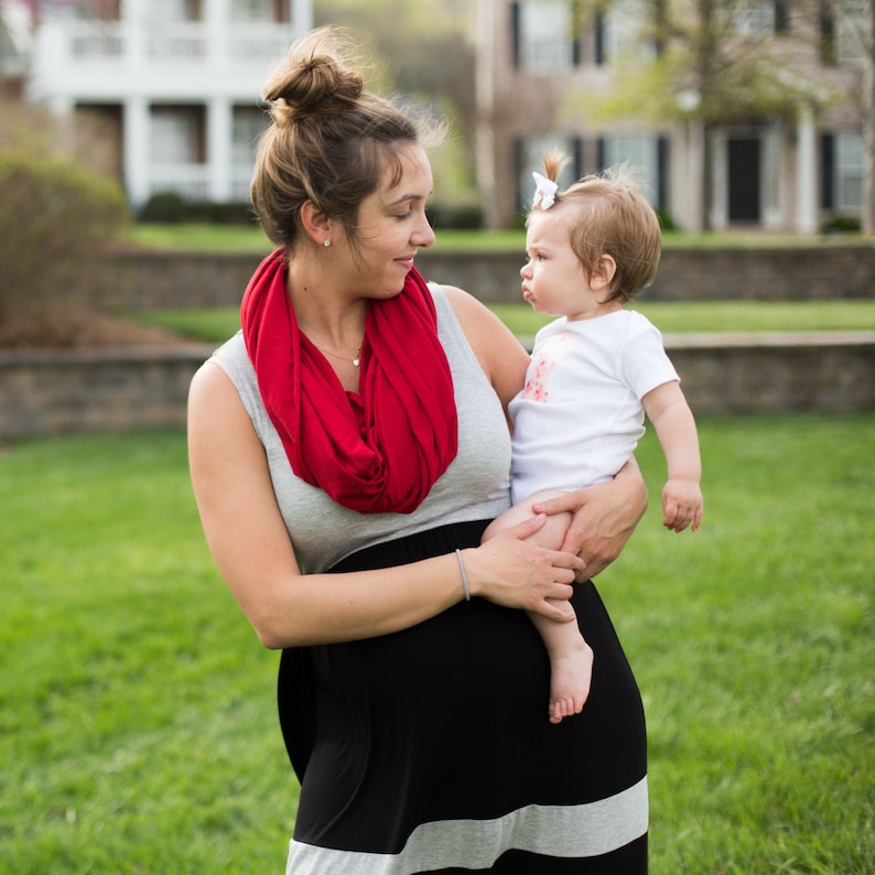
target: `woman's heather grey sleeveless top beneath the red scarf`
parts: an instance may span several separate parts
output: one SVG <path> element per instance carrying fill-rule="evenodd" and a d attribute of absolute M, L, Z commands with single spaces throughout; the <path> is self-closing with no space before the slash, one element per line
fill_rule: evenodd
<path fill-rule="evenodd" d="M 458 454 L 412 514 L 359 514 L 295 476 L 258 391 L 242 334 L 213 355 L 237 388 L 264 446 L 277 503 L 304 573 L 325 571 L 376 543 L 452 522 L 493 519 L 510 506 L 510 438 L 504 410 L 443 289 L 434 283 L 429 289 L 453 374 Z"/>

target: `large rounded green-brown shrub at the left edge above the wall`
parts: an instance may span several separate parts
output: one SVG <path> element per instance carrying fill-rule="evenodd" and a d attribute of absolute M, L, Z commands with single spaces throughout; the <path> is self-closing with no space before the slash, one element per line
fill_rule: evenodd
<path fill-rule="evenodd" d="M 56 156 L 0 151 L 0 346 L 66 346 L 105 290 L 121 188 Z"/>

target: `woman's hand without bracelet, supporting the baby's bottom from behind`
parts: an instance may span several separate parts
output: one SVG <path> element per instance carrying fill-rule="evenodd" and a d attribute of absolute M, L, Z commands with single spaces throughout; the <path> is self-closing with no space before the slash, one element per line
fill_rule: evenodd
<path fill-rule="evenodd" d="M 608 483 L 565 493 L 532 506 L 536 514 L 573 515 L 562 550 L 583 559 L 586 575 L 595 577 L 623 551 L 647 510 L 647 488 L 634 460 Z"/>

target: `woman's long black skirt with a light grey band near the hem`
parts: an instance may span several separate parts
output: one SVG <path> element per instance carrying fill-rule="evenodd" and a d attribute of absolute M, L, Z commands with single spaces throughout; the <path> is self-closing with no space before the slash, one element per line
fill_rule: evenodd
<path fill-rule="evenodd" d="M 332 571 L 475 547 L 487 523 Z M 284 650 L 280 724 L 302 787 L 288 872 L 646 873 L 640 694 L 592 582 L 572 604 L 595 660 L 583 712 L 559 725 L 533 625 L 480 598 L 392 635 Z"/>

